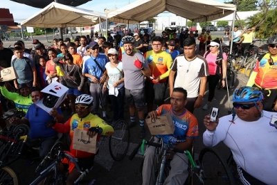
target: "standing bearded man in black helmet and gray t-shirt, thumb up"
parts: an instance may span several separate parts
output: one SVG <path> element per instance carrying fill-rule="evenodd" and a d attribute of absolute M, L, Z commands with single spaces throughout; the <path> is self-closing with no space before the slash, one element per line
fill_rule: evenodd
<path fill-rule="evenodd" d="M 145 103 L 144 76 L 150 76 L 151 71 L 143 55 L 134 52 L 134 37 L 125 36 L 122 38 L 125 55 L 122 56 L 125 96 L 129 104 L 130 123 L 136 125 L 136 109 L 139 114 L 140 138 L 145 135 L 143 103 Z"/>

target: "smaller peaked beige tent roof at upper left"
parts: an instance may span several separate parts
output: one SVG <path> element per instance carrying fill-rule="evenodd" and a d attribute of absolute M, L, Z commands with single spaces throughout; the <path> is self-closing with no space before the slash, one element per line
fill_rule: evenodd
<path fill-rule="evenodd" d="M 105 14 L 66 6 L 60 3 L 51 3 L 37 14 L 21 22 L 21 25 L 39 28 L 61 28 L 75 26 L 91 26 L 105 21 Z"/>

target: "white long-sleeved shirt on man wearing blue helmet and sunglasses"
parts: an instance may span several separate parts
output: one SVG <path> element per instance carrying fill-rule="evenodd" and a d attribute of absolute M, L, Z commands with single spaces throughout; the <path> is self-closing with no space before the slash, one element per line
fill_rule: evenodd
<path fill-rule="evenodd" d="M 214 132 L 206 130 L 203 142 L 206 146 L 223 143 L 231 149 L 233 159 L 249 175 L 265 184 L 277 182 L 277 130 L 269 125 L 271 115 L 275 112 L 262 111 L 258 121 L 242 121 L 232 115 L 220 118 Z"/>

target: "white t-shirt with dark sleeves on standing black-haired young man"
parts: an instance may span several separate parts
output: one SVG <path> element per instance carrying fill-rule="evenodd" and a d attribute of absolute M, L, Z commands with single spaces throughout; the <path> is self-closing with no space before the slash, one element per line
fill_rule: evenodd
<path fill-rule="evenodd" d="M 186 60 L 185 55 L 175 58 L 171 68 L 177 72 L 174 87 L 183 87 L 188 92 L 188 98 L 199 95 L 200 78 L 209 76 L 206 59 L 197 55 L 194 60 Z"/>

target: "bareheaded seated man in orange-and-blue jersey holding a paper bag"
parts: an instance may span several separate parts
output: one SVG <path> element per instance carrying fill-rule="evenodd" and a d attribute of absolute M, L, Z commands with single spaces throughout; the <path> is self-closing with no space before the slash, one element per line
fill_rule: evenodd
<path fill-rule="evenodd" d="M 164 143 L 168 141 L 172 142 L 175 148 L 181 150 L 190 150 L 193 146 L 194 139 L 198 136 L 198 123 L 197 118 L 192 113 L 186 110 L 185 105 L 187 91 L 182 87 L 173 89 L 172 96 L 170 98 L 170 104 L 161 105 L 157 110 L 150 112 L 148 115 L 151 118 L 157 118 L 159 115 L 170 113 L 172 121 L 175 125 L 175 132 L 170 135 L 157 135 L 155 141 L 158 138 L 162 138 Z M 145 151 L 145 157 L 143 162 L 143 185 L 155 183 L 155 170 L 154 166 L 154 152 L 155 147 L 149 146 Z M 175 153 L 169 151 L 171 159 L 171 170 L 163 184 L 179 184 L 182 185 L 186 182 L 188 177 L 188 157 L 185 154 Z M 159 166 L 158 166 L 159 168 Z"/>

